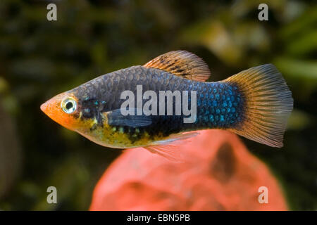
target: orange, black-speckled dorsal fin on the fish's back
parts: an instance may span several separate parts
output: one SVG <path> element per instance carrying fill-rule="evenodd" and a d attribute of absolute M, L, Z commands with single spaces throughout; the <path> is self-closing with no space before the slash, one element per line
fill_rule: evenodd
<path fill-rule="evenodd" d="M 188 51 L 169 51 L 144 65 L 170 72 L 173 75 L 205 82 L 210 76 L 208 65 L 193 53 Z"/>

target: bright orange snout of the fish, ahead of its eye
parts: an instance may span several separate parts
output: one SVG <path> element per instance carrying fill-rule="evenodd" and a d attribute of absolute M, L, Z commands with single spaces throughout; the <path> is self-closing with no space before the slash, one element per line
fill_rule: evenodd
<path fill-rule="evenodd" d="M 63 99 L 69 96 L 70 94 L 67 93 L 58 94 L 57 96 L 49 99 L 49 101 L 43 103 L 40 108 L 51 118 L 51 120 L 54 120 L 67 129 L 75 130 L 77 120 L 74 114 L 67 114 L 61 108 L 61 102 Z M 71 95 L 71 97 L 74 98 L 73 95 Z"/>

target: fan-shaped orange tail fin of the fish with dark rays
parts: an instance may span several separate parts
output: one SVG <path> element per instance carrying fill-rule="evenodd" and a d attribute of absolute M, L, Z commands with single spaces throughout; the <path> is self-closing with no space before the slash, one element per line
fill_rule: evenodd
<path fill-rule="evenodd" d="M 231 131 L 272 147 L 282 147 L 293 98 L 281 73 L 272 64 L 233 75 L 226 82 L 238 86 L 245 98 L 241 124 Z"/>

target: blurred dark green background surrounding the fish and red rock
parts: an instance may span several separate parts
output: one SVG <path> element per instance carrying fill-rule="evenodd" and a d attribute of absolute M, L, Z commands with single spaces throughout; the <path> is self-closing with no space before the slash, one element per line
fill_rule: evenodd
<path fill-rule="evenodd" d="M 57 21 L 46 6 L 57 5 Z M 268 4 L 268 21 L 258 6 Z M 87 210 L 120 154 L 46 117 L 39 105 L 167 51 L 196 53 L 211 81 L 273 63 L 294 97 L 285 147 L 243 139 L 291 210 L 317 209 L 317 4 L 313 1 L 0 1 L 0 210 Z M 56 186 L 58 204 L 46 203 Z"/>

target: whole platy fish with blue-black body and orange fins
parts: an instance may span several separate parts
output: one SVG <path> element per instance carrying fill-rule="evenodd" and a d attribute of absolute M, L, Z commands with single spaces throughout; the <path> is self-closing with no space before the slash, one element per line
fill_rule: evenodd
<path fill-rule="evenodd" d="M 207 82 L 210 75 L 199 56 L 170 51 L 101 75 L 40 108 L 101 146 L 142 147 L 169 160 L 177 160 L 178 145 L 202 129 L 225 129 L 281 148 L 293 98 L 278 69 L 259 65 L 218 82 Z"/>

